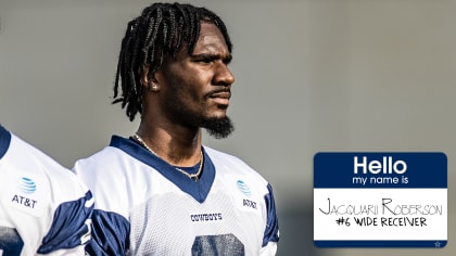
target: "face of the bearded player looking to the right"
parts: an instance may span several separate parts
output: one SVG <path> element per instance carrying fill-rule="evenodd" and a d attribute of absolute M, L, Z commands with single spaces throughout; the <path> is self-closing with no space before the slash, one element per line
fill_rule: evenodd
<path fill-rule="evenodd" d="M 235 77 L 228 69 L 231 54 L 220 30 L 201 23 L 200 37 L 192 54 L 187 48 L 176 59 L 166 59 L 162 69 L 164 114 L 174 123 L 206 128 L 210 135 L 225 138 L 232 130 L 227 117 Z"/>

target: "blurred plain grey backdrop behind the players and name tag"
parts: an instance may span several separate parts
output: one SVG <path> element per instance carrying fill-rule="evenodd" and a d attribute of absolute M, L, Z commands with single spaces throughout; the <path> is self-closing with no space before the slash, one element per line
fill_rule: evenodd
<path fill-rule="evenodd" d="M 189 0 L 215 11 L 235 43 L 229 114 L 205 144 L 274 187 L 278 255 L 454 255 L 456 1 Z M 0 123 L 71 168 L 136 131 L 111 105 L 127 21 L 151 1 L 0 0 Z M 317 248 L 313 156 L 320 151 L 438 151 L 448 158 L 444 248 Z"/>

